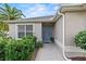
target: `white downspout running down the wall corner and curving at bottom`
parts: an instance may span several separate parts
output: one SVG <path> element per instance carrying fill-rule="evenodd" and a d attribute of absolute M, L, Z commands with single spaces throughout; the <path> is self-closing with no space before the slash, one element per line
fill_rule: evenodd
<path fill-rule="evenodd" d="M 64 14 L 61 12 L 58 12 L 59 15 L 63 16 L 63 44 L 62 44 L 62 54 L 65 61 L 71 61 L 65 56 L 65 47 L 64 47 Z"/>

